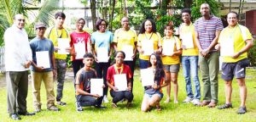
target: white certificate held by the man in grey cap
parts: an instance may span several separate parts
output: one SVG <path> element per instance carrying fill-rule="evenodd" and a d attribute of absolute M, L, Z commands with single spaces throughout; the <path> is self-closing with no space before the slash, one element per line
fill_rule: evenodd
<path fill-rule="evenodd" d="M 50 68 L 49 51 L 36 52 L 36 57 L 37 57 L 38 66 L 41 66 L 44 68 Z"/>

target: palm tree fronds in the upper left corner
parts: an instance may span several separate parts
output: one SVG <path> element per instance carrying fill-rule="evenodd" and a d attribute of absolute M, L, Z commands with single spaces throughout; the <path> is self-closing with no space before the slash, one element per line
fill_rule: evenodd
<path fill-rule="evenodd" d="M 43 21 L 49 23 L 49 19 L 53 17 L 50 13 L 55 8 L 58 8 L 59 0 L 44 0 L 41 8 L 38 8 L 38 13 L 35 13 L 31 8 L 37 7 L 42 0 L 0 0 L 0 46 L 3 46 L 3 33 L 13 24 L 15 14 L 35 15 L 35 20 L 29 22 L 26 28 L 32 28 L 35 21 Z M 37 8 L 36 8 L 37 9 Z M 29 20 L 29 19 L 28 19 Z"/>

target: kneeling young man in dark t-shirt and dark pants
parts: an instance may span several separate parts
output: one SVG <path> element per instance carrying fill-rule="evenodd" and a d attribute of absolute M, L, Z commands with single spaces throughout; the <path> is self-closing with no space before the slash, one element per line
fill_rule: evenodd
<path fill-rule="evenodd" d="M 77 98 L 77 111 L 83 111 L 82 107 L 95 106 L 95 108 L 106 108 L 102 106 L 102 99 L 97 94 L 90 93 L 90 79 L 96 78 L 95 69 L 90 68 L 93 64 L 93 54 L 84 54 L 84 68 L 79 69 L 76 75 L 75 88 L 76 88 L 76 98 Z M 102 84 L 103 87 L 105 87 Z"/>

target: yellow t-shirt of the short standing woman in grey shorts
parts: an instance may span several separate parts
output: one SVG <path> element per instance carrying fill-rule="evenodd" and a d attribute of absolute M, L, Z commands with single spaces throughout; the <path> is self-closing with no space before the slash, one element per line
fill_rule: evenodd
<path fill-rule="evenodd" d="M 166 37 L 163 38 L 162 45 L 164 42 L 174 42 L 173 44 L 173 52 L 181 49 L 181 42 L 176 36 L 172 36 L 170 39 L 166 39 Z M 164 47 L 163 47 L 164 50 Z M 179 56 L 173 55 L 173 56 L 162 56 L 162 62 L 163 64 L 170 65 L 170 64 L 179 64 Z"/>

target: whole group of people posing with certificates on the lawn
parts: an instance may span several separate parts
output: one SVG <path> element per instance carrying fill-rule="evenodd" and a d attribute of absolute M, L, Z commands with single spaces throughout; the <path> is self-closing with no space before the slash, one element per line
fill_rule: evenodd
<path fill-rule="evenodd" d="M 183 24 L 179 27 L 179 37 L 173 36 L 173 25 L 166 25 L 162 38 L 156 30 L 153 19 L 145 19 L 137 36 L 137 32 L 129 26 L 129 19 L 121 19 L 122 28 L 114 35 L 107 30 L 105 19 L 96 21 L 96 30 L 91 35 L 83 31 L 85 20 L 78 19 L 76 30 L 71 34 L 63 27 L 66 15 L 62 12 L 55 14 L 55 25 L 47 29 L 46 25 L 38 22 L 35 25 L 37 36 L 28 42 L 24 30 L 25 19 L 22 14 L 16 14 L 14 25 L 4 33 L 5 66 L 8 89 L 8 113 L 11 119 L 20 119 L 19 115 L 34 115 L 26 110 L 28 86 L 28 69 L 31 66 L 32 94 L 35 112 L 41 111 L 40 89 L 41 82 L 47 94 L 47 109 L 59 111 L 55 106 L 65 106 L 61 101 L 65 74 L 67 70 L 67 54 L 60 53 L 61 42 L 69 42 L 64 52 L 71 54 L 74 73 L 74 89 L 77 111 L 83 111 L 85 106 L 106 108 L 102 102 L 108 103 L 108 87 L 112 107 L 118 108 L 117 103 L 127 101 L 127 108 L 132 107 L 133 74 L 136 55 L 139 53 L 139 68 L 150 69 L 154 75 L 154 85 L 144 86 L 144 96 L 141 110 L 148 112 L 152 108 L 160 110 L 160 100 L 163 98 L 162 87 L 166 87 L 165 103 L 170 103 L 171 85 L 173 86 L 173 103 L 178 103 L 177 75 L 180 62 L 183 66 L 183 76 L 186 82 L 187 97 L 183 103 L 193 103 L 196 106 L 214 108 L 218 103 L 218 58 L 223 57 L 222 78 L 225 80 L 226 102 L 218 109 L 232 108 L 231 93 L 234 76 L 240 87 L 241 105 L 237 114 L 245 114 L 247 87 L 245 71 L 248 64 L 247 51 L 253 47 L 253 37 L 245 26 L 238 24 L 238 14 L 227 14 L 228 26 L 223 27 L 221 19 L 210 14 L 210 6 L 201 4 L 200 19 L 191 22 L 189 8 L 182 10 Z M 78 46 L 83 46 L 78 47 Z M 228 45 L 228 46 L 227 46 Z M 231 46 L 230 46 L 231 45 Z M 125 50 L 131 49 L 132 54 Z M 107 53 L 107 57 L 102 55 Z M 39 53 L 45 53 L 49 67 L 38 65 Z M 84 56 L 80 56 L 80 53 Z M 125 54 L 126 53 L 126 54 Z M 111 64 L 113 54 L 114 63 Z M 180 56 L 182 60 L 180 61 Z M 104 57 L 104 61 L 102 61 Z M 129 57 L 130 59 L 125 59 Z M 95 62 L 95 69 L 92 65 Z M 202 102 L 201 86 L 198 77 L 201 70 L 203 83 Z M 54 78 L 57 79 L 57 95 L 54 93 Z M 119 79 L 118 79 L 119 77 Z M 90 93 L 92 79 L 102 79 L 102 96 Z M 127 89 L 119 91 L 115 82 L 120 78 L 126 79 Z M 192 91 L 191 80 L 195 84 Z"/>

